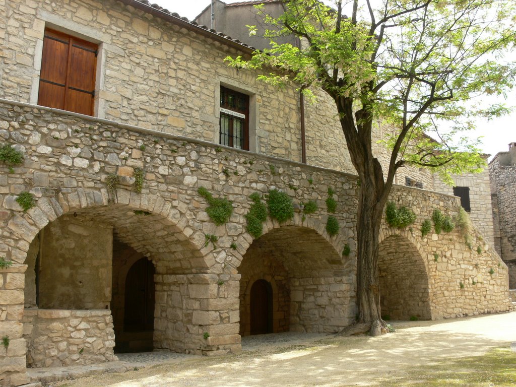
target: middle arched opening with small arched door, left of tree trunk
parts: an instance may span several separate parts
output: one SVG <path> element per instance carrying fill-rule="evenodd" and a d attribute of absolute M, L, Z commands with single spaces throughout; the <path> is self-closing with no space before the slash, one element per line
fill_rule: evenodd
<path fill-rule="evenodd" d="M 240 335 L 265 331 L 264 321 L 255 328 L 256 316 L 265 313 L 253 308 L 265 310 L 266 294 L 269 333 L 336 332 L 356 314 L 353 261 L 308 227 L 283 226 L 253 240 L 238 272 Z M 254 292 L 261 294 L 260 307 Z"/>

